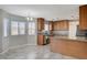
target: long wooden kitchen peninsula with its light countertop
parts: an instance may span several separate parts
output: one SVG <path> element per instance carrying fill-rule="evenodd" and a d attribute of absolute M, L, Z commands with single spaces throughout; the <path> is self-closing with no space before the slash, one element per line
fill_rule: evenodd
<path fill-rule="evenodd" d="M 51 51 L 76 58 L 87 58 L 86 37 L 51 36 Z"/>

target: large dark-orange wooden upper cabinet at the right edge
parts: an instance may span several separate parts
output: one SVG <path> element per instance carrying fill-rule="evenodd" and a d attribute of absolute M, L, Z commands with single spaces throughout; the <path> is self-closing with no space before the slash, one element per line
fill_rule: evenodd
<path fill-rule="evenodd" d="M 87 30 L 87 6 L 79 7 L 79 29 Z"/>

